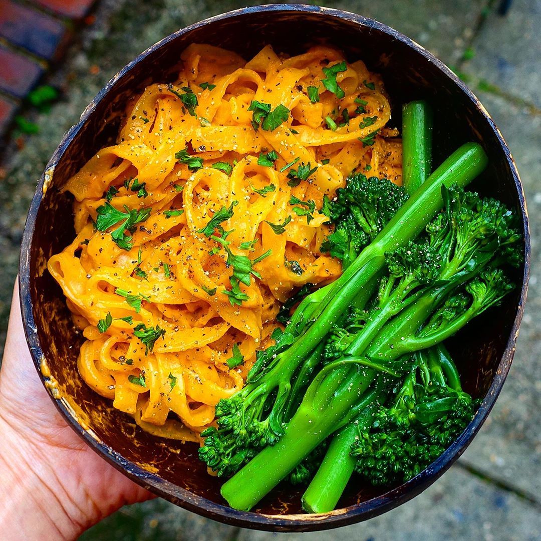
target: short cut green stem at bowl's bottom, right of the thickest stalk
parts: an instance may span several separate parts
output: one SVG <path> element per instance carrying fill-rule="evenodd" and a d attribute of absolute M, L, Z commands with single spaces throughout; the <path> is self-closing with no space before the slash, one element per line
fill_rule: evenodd
<path fill-rule="evenodd" d="M 371 404 L 333 436 L 325 458 L 302 496 L 302 509 L 306 512 L 326 513 L 337 505 L 355 467 L 351 446 L 359 430 L 372 424 L 374 411 L 375 404 Z"/>

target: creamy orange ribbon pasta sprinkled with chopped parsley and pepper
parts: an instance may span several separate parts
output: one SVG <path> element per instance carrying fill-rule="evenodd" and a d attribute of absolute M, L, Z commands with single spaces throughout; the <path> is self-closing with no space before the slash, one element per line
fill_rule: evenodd
<path fill-rule="evenodd" d="M 355 169 L 400 183 L 401 144 L 378 76 L 337 49 L 246 62 L 193 44 L 181 60 L 68 181 L 76 237 L 48 268 L 85 338 L 83 380 L 144 430 L 195 441 L 280 304 L 340 275 L 325 197 Z"/>

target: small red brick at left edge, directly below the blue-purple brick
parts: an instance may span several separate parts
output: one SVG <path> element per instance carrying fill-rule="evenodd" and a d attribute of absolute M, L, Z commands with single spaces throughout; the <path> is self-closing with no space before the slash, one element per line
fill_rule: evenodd
<path fill-rule="evenodd" d="M 37 62 L 0 46 L 0 90 L 23 98 L 42 74 Z"/>

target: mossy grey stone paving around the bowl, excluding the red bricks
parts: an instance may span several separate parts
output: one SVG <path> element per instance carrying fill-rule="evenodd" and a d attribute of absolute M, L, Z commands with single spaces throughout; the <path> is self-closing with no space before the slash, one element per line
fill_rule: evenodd
<path fill-rule="evenodd" d="M 249 2 L 256 4 L 256 2 Z M 23 149 L 11 144 L 0 181 L 0 345 L 25 214 L 36 181 L 62 134 L 115 72 L 138 52 L 178 28 L 246 3 L 235 0 L 102 0 L 96 23 L 83 32 L 51 76 L 63 97 L 49 114 L 30 113 L 40 133 Z M 272 534 L 225 526 L 163 500 L 125 507 L 82 537 L 197 541 L 326 541 L 485 539 L 541 540 L 541 1 L 514 0 L 497 14 L 491 0 L 328 1 L 411 36 L 452 65 L 479 95 L 504 134 L 530 206 L 532 276 L 517 353 L 489 420 L 464 456 L 411 502 L 365 523 L 311 534 Z M 1 346 L 0 346 L 1 347 Z"/>

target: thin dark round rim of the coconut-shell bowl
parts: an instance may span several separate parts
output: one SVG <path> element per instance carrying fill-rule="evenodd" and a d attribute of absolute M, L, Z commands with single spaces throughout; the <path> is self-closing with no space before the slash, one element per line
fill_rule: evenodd
<path fill-rule="evenodd" d="M 55 398 L 51 394 L 50 389 L 47 385 L 45 385 L 48 378 L 45 377 L 41 371 L 42 359 L 44 359 L 44 355 L 39 344 L 36 322 L 32 312 L 32 299 L 30 295 L 30 246 L 34 236 L 37 212 L 43 200 L 44 192 L 52 180 L 52 175 L 54 173 L 56 164 L 60 161 L 63 154 L 70 146 L 74 136 L 78 133 L 78 131 L 81 130 L 83 124 L 87 121 L 89 116 L 94 113 L 96 105 L 101 102 L 101 100 L 109 93 L 111 89 L 113 89 L 118 80 L 127 75 L 128 72 L 143 58 L 161 48 L 169 41 L 172 41 L 178 36 L 186 34 L 187 32 L 190 32 L 196 28 L 203 27 L 217 21 L 222 21 L 224 19 L 251 14 L 252 12 L 288 11 L 300 11 L 306 14 L 321 17 L 333 17 L 342 21 L 357 23 L 362 27 L 384 32 L 393 39 L 404 43 L 407 45 L 407 47 L 414 49 L 418 54 L 424 56 L 426 60 L 433 63 L 448 78 L 450 84 L 458 85 L 460 90 L 466 95 L 467 98 L 470 99 L 470 101 L 485 117 L 485 120 L 489 123 L 506 155 L 511 174 L 513 176 L 514 186 L 517 190 L 518 201 L 524 224 L 524 274 L 522 291 L 520 292 L 517 313 L 514 318 L 511 334 L 509 340 L 507 341 L 502 358 L 499 361 L 498 368 L 490 388 L 487 391 L 483 402 L 471 423 L 465 428 L 461 436 L 454 441 L 454 443 L 448 447 L 446 451 L 441 454 L 436 461 L 434 461 L 433 464 L 406 483 L 396 487 L 395 489 L 387 491 L 381 496 L 371 498 L 360 504 L 344 507 L 342 509 L 336 509 L 328 513 L 269 515 L 263 513 L 236 511 L 226 505 L 217 504 L 208 500 L 207 498 L 193 494 L 187 489 L 183 489 L 182 487 L 170 483 L 169 481 L 166 481 L 153 473 L 143 470 L 137 464 L 122 457 L 120 453 L 116 452 L 108 445 L 104 445 L 91 430 L 83 429 L 80 421 L 77 419 L 76 413 L 72 410 L 69 404 L 63 400 L 62 397 Z M 80 117 L 80 121 L 64 134 L 62 141 L 58 145 L 54 154 L 51 156 L 51 159 L 45 167 L 44 173 L 41 175 L 41 178 L 38 181 L 35 195 L 30 204 L 27 221 L 24 227 L 21 257 L 19 261 L 19 301 L 21 302 L 24 331 L 30 353 L 32 355 L 32 359 L 34 360 L 34 365 L 39 377 L 42 380 L 42 384 L 48 390 L 51 400 L 55 403 L 58 411 L 60 411 L 63 418 L 67 420 L 68 424 L 73 428 L 73 430 L 75 430 L 75 432 L 77 432 L 90 445 L 90 447 L 94 449 L 94 451 L 100 454 L 102 458 L 107 460 L 117 470 L 126 474 L 129 478 L 144 486 L 146 489 L 159 494 L 159 496 L 162 496 L 189 511 L 193 511 L 204 517 L 219 520 L 219 522 L 222 523 L 268 531 L 317 531 L 360 522 L 361 520 L 372 518 L 392 509 L 393 507 L 397 507 L 398 505 L 407 502 L 416 494 L 424 490 L 428 485 L 433 483 L 433 481 L 435 481 L 438 477 L 440 477 L 441 474 L 443 474 L 464 452 L 465 448 L 467 445 L 469 445 L 492 409 L 492 406 L 500 393 L 507 373 L 511 367 L 520 321 L 522 320 L 524 312 L 524 302 L 526 300 L 529 275 L 529 220 L 522 183 L 520 182 L 520 177 L 510 150 L 507 147 L 500 130 L 472 91 L 462 81 L 460 81 L 460 79 L 443 62 L 438 60 L 438 58 L 433 56 L 425 48 L 421 47 L 421 45 L 414 42 L 411 38 L 408 38 L 404 34 L 401 34 L 397 30 L 375 21 L 374 19 L 344 10 L 324 8 L 321 6 L 306 4 L 270 4 L 250 6 L 247 8 L 228 11 L 214 17 L 203 19 L 202 21 L 196 22 L 185 28 L 177 30 L 176 32 L 173 32 L 173 34 L 161 39 L 159 42 L 155 43 L 134 58 L 133 61 L 129 62 L 115 76 L 113 76 L 107 84 L 105 84 L 105 86 L 98 92 L 89 105 L 87 105 Z"/>

